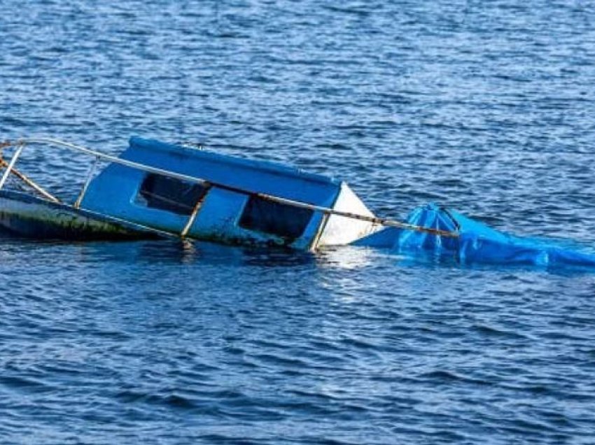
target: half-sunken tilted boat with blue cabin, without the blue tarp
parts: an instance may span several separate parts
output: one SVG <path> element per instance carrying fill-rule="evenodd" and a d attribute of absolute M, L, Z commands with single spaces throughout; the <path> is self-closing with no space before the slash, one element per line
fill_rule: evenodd
<path fill-rule="evenodd" d="M 107 162 L 66 203 L 15 169 L 25 146 L 48 143 Z M 15 147 L 0 180 L 0 226 L 21 236 L 180 236 L 316 250 L 349 244 L 383 222 L 346 183 L 272 162 L 133 137 L 119 157 L 52 139 Z M 35 195 L 3 190 L 17 174 Z M 36 196 L 37 195 L 37 196 Z"/>

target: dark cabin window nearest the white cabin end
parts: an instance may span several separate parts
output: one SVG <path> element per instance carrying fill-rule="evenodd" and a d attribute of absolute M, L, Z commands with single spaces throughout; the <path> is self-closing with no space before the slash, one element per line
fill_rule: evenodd
<path fill-rule="evenodd" d="M 239 226 L 283 238 L 298 238 L 304 233 L 312 213 L 314 212 L 308 209 L 300 209 L 252 196 L 244 207 Z"/>

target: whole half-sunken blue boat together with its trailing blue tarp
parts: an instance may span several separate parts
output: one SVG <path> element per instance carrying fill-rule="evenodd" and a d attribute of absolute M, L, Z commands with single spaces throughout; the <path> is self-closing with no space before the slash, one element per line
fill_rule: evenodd
<path fill-rule="evenodd" d="M 91 157 L 73 202 L 16 169 L 31 144 Z M 498 232 L 435 204 L 405 221 L 374 216 L 346 183 L 281 164 L 133 137 L 120 156 L 55 139 L 20 139 L 0 156 L 0 227 L 41 239 L 181 237 L 316 251 L 381 248 L 399 255 L 447 257 L 460 264 L 595 267 L 595 254 L 554 241 Z M 98 164 L 106 163 L 97 172 Z M 27 188 L 8 190 L 9 177 Z"/>

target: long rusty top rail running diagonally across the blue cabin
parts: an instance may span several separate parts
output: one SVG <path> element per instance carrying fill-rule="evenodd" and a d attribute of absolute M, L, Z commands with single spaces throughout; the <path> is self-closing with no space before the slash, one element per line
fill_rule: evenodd
<path fill-rule="evenodd" d="M 20 139 L 16 143 L 48 143 L 50 145 L 63 146 L 66 148 L 70 148 L 72 150 L 79 151 L 80 153 L 85 153 L 86 155 L 99 157 L 100 159 L 103 159 L 103 160 L 106 160 L 109 162 L 113 162 L 115 164 L 121 164 L 126 167 L 131 167 L 133 169 L 147 171 L 148 173 L 167 176 L 169 178 L 176 178 L 176 179 L 179 179 L 180 181 L 188 181 L 190 183 L 198 183 L 198 184 L 204 185 L 206 187 L 214 186 L 216 188 L 221 188 L 223 190 L 229 190 L 231 192 L 241 193 L 242 195 L 255 196 L 260 199 L 265 199 L 266 201 L 276 202 L 278 204 L 285 204 L 287 206 L 297 207 L 299 209 L 308 209 L 311 211 L 319 211 L 319 212 L 325 213 L 326 215 L 329 215 L 329 216 L 330 215 L 344 216 L 345 218 L 366 221 L 368 223 L 383 225 L 386 227 L 398 227 L 399 229 L 412 230 L 414 232 L 424 232 L 424 233 L 429 233 L 429 234 L 433 234 L 433 235 L 437 235 L 437 236 L 447 236 L 447 237 L 451 237 L 451 238 L 458 238 L 457 232 L 449 232 L 447 230 L 440 230 L 440 229 L 430 229 L 428 227 L 421 227 L 419 225 L 402 223 L 401 221 L 391 220 L 388 218 L 377 218 L 375 216 L 358 215 L 357 213 L 350 213 L 350 212 L 329 209 L 328 207 L 315 206 L 313 204 L 307 204 L 305 202 L 294 201 L 293 199 L 275 197 L 272 195 L 267 195 L 265 193 L 251 192 L 249 190 L 243 190 L 241 188 L 236 188 L 231 185 L 225 185 L 225 184 L 220 184 L 220 183 L 211 183 L 210 181 L 205 181 L 204 179 L 201 179 L 201 178 L 195 178 L 194 176 L 188 176 L 188 175 L 184 175 L 184 174 L 174 173 L 173 171 L 167 171 L 167 170 L 159 169 L 156 167 L 149 167 L 148 165 L 139 164 L 138 162 L 121 159 L 120 157 L 116 157 L 116 156 L 106 155 L 104 153 L 101 153 L 101 152 L 98 152 L 95 150 L 91 150 L 90 148 L 77 146 L 73 143 L 59 141 L 57 139 L 46 139 L 46 138 Z M 14 144 L 10 144 L 10 145 L 14 145 Z M 2 184 L 0 183 L 0 189 L 1 189 L 1 186 L 2 186 Z"/>

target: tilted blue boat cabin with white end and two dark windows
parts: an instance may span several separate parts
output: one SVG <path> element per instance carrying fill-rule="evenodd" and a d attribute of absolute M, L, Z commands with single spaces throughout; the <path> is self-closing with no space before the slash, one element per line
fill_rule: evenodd
<path fill-rule="evenodd" d="M 89 183 L 80 209 L 192 239 L 300 250 L 350 243 L 379 228 L 316 209 L 373 217 L 345 183 L 326 176 L 138 137 L 120 159 L 199 181 L 112 163 Z"/>

